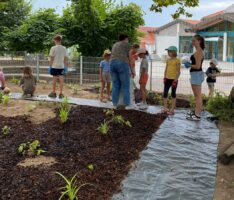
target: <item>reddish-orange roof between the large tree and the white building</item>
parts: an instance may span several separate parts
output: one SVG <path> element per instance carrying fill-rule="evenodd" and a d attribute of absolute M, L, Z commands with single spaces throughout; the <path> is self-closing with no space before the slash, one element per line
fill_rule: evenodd
<path fill-rule="evenodd" d="M 155 44 L 155 30 L 157 30 L 157 27 L 140 26 L 138 28 L 139 32 L 145 33 L 143 37 L 140 37 L 141 45 Z"/>

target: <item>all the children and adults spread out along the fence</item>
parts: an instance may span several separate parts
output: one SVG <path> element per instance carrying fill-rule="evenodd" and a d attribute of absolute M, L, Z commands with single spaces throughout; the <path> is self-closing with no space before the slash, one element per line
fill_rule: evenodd
<path fill-rule="evenodd" d="M 56 98 L 56 84 L 60 83 L 59 98 L 63 98 L 64 74 L 68 66 L 68 52 L 62 46 L 62 36 L 54 37 L 55 46 L 50 50 L 50 67 L 49 73 L 53 76 L 52 92 L 48 95 L 51 98 Z M 199 121 L 203 110 L 202 90 L 201 86 L 204 81 L 204 72 L 202 64 L 204 60 L 205 40 L 200 35 L 195 35 L 192 39 L 192 44 L 196 49 L 191 56 L 190 61 L 183 63 L 186 68 L 190 68 L 190 82 L 195 97 L 195 110 L 187 113 L 186 118 L 189 120 Z M 163 113 L 173 115 L 176 108 L 176 90 L 180 77 L 181 60 L 177 57 L 177 48 L 170 46 L 166 49 L 168 59 L 164 72 L 164 108 Z M 146 103 L 146 85 L 148 82 L 148 51 L 145 48 L 140 48 L 138 44 L 130 45 L 127 35 L 121 34 L 119 41 L 116 42 L 112 50 L 105 50 L 103 53 L 104 60 L 100 63 L 100 81 L 101 94 L 100 100 L 104 101 L 104 90 L 107 90 L 107 100 L 112 101 L 114 108 L 125 106 L 125 109 L 134 109 L 139 106 L 140 110 L 147 109 Z M 134 103 L 134 78 L 136 76 L 135 63 L 140 60 L 139 84 L 142 96 L 142 102 L 135 105 Z M 214 83 L 216 82 L 216 74 L 220 73 L 217 68 L 217 60 L 212 59 L 210 67 L 206 71 L 207 83 L 210 90 L 210 96 L 214 93 Z M 10 89 L 5 85 L 5 78 L 0 69 L 1 88 L 5 93 L 9 93 Z M 23 90 L 23 95 L 33 96 L 36 89 L 36 79 L 33 76 L 30 66 L 26 66 L 23 71 L 23 76 L 20 80 L 20 86 Z M 112 92 L 111 92 L 112 86 Z M 168 92 L 171 89 L 172 105 L 168 107 Z"/>

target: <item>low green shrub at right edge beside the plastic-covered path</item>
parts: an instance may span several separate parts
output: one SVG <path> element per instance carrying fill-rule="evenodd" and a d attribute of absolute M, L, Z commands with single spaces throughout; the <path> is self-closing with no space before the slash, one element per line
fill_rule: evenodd
<path fill-rule="evenodd" d="M 217 93 L 209 99 L 206 109 L 220 120 L 234 122 L 234 103 L 227 96 Z"/>

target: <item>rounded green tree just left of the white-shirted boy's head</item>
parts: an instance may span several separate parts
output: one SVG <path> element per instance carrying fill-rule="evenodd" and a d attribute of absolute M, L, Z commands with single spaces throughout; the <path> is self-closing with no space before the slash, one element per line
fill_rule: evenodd
<path fill-rule="evenodd" d="M 41 9 L 13 31 L 7 31 L 9 50 L 30 53 L 47 51 L 58 33 L 60 17 L 54 9 Z"/>

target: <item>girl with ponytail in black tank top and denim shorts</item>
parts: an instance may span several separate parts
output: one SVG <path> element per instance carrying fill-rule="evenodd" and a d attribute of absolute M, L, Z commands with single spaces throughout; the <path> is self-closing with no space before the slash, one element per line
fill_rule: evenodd
<path fill-rule="evenodd" d="M 204 60 L 204 49 L 205 49 L 205 39 L 200 35 L 195 35 L 192 39 L 193 47 L 195 47 L 196 52 L 191 56 L 191 63 L 186 63 L 186 67 L 191 67 L 190 69 L 190 82 L 195 97 L 195 110 L 187 114 L 187 119 L 193 121 L 201 120 L 201 112 L 203 110 L 202 101 L 202 83 L 205 79 L 204 72 L 202 70 L 202 64 Z"/>

